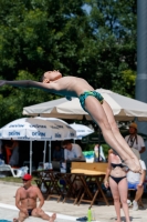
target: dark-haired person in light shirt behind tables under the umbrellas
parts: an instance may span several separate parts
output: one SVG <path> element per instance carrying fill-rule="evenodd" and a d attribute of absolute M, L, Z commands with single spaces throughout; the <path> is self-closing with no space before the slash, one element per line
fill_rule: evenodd
<path fill-rule="evenodd" d="M 71 143 L 69 140 L 63 141 L 62 147 L 64 148 L 64 160 L 81 159 L 85 160 L 82 149 L 76 143 Z"/>

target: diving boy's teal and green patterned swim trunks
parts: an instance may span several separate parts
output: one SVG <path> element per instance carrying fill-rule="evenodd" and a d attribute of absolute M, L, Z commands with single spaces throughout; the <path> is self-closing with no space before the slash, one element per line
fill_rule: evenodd
<path fill-rule="evenodd" d="M 80 103 L 81 103 L 81 107 L 83 108 L 83 110 L 85 110 L 85 99 L 87 97 L 95 97 L 102 104 L 103 104 L 103 100 L 104 98 L 102 97 L 101 93 L 96 92 L 96 91 L 85 91 L 83 94 L 80 95 Z M 85 110 L 86 111 L 86 110 Z"/>

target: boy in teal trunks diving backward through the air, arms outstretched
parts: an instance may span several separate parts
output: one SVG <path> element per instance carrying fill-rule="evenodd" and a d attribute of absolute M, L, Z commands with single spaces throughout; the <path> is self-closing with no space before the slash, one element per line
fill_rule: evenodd
<path fill-rule="evenodd" d="M 48 71 L 42 75 L 42 82 L 22 81 L 0 81 L 0 87 L 10 84 L 13 87 L 38 88 L 46 92 L 60 94 L 71 100 L 78 98 L 82 108 L 88 112 L 92 119 L 99 125 L 105 141 L 122 158 L 124 163 L 133 172 L 141 172 L 138 159 L 119 133 L 114 119 L 113 111 L 104 98 L 91 87 L 84 79 L 76 77 L 62 77 L 59 71 Z"/>

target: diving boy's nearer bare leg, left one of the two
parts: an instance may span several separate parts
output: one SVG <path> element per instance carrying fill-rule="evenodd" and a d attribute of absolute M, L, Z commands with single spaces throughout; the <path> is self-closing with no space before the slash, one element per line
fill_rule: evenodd
<path fill-rule="evenodd" d="M 130 157 L 116 140 L 109 125 L 107 115 L 97 99 L 94 97 L 87 97 L 85 100 L 85 109 L 92 119 L 99 125 L 107 144 L 109 144 L 111 148 L 113 148 L 120 155 L 132 171 L 139 172 L 140 167 L 135 163 L 136 159 Z"/>

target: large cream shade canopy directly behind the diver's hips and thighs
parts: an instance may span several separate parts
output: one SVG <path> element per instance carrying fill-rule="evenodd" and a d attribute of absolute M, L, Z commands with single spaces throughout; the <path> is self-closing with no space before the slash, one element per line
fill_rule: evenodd
<path fill-rule="evenodd" d="M 130 99 L 109 90 L 97 89 L 105 101 L 111 105 L 116 120 L 132 121 L 137 118 L 139 121 L 147 121 L 147 103 Z M 54 117 L 61 119 L 76 119 L 82 120 L 84 117 L 91 120 L 77 98 L 72 98 L 72 101 L 65 98 L 34 104 L 23 108 L 23 114 Z"/>

